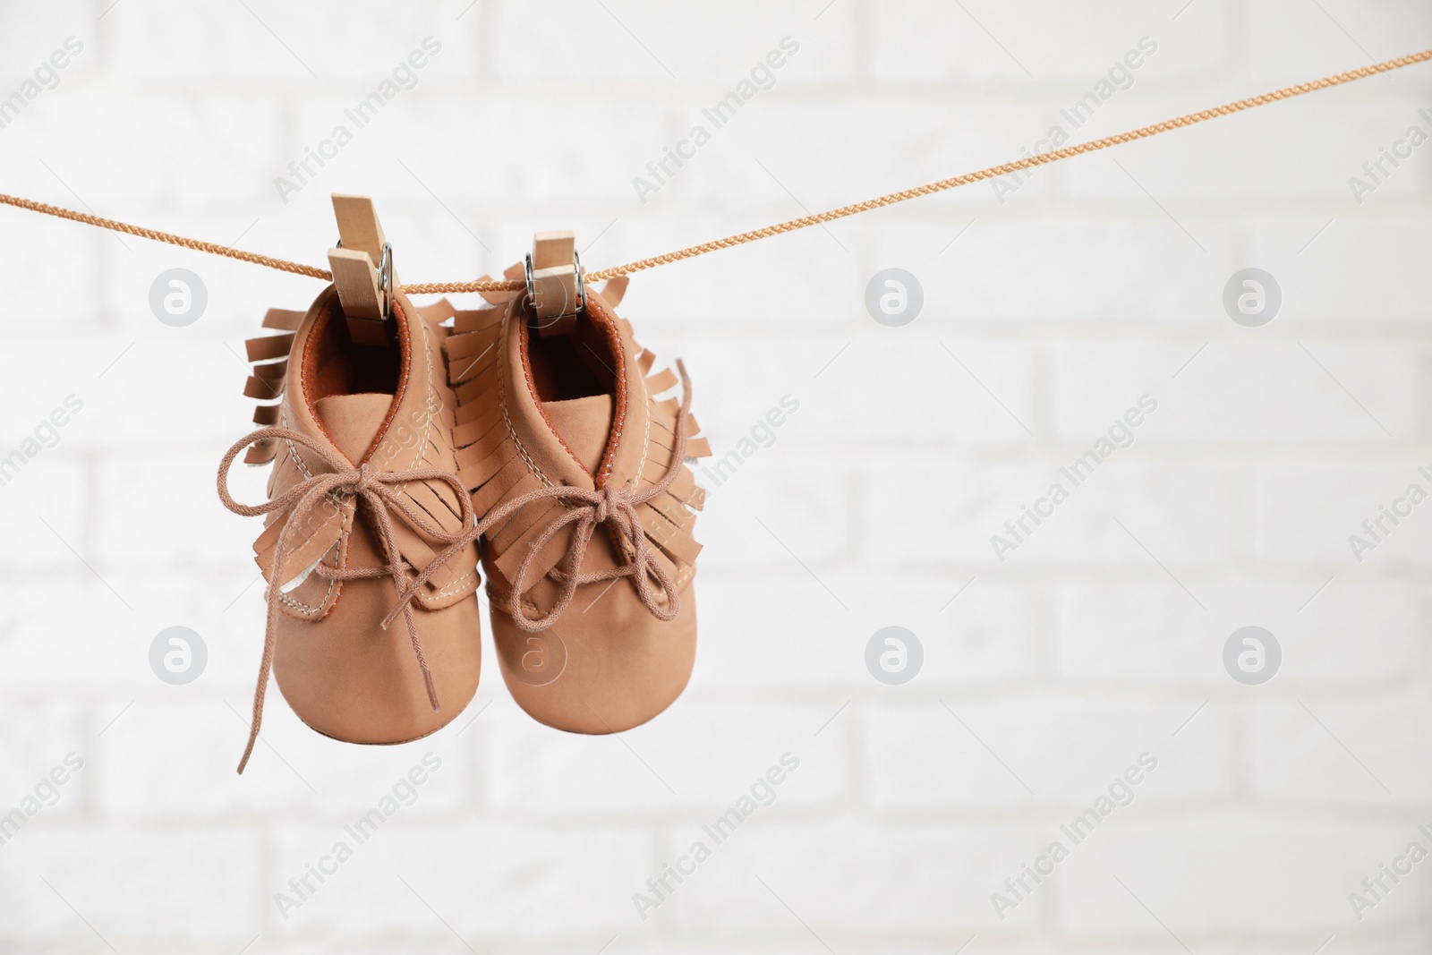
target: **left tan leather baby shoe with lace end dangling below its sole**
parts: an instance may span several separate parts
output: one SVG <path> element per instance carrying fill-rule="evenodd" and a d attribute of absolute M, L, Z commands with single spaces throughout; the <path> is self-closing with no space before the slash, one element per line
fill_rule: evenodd
<path fill-rule="evenodd" d="M 445 311 L 444 311 L 445 309 Z M 455 477 L 454 397 L 442 364 L 442 302 L 424 318 L 392 302 L 384 345 L 352 339 L 329 286 L 299 321 L 271 312 L 268 326 L 294 335 L 253 339 L 246 394 L 261 428 L 235 444 L 219 470 L 225 505 L 265 514 L 253 548 L 268 580 L 268 627 L 253 724 L 239 772 L 258 737 L 272 666 L 284 697 L 319 733 L 352 743 L 401 743 L 448 723 L 473 699 L 481 621 L 474 597 L 477 547 L 467 488 Z M 286 355 L 286 365 L 282 361 Z M 252 445 L 252 447 L 251 447 Z M 229 497 L 233 458 L 274 462 L 269 501 Z M 441 564 L 432 564 L 442 550 Z M 430 564 L 432 564 L 430 567 Z M 427 570 L 422 584 L 407 584 Z M 407 594 L 394 607 L 398 593 Z M 385 614 L 401 626 L 385 626 Z"/>

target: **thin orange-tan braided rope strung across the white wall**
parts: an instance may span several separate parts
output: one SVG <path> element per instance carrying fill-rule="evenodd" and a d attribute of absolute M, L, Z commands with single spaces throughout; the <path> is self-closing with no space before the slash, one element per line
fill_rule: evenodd
<path fill-rule="evenodd" d="M 650 269 L 657 265 L 669 265 L 672 262 L 680 262 L 682 259 L 690 259 L 697 255 L 706 255 L 707 252 L 716 252 L 717 249 L 729 249 L 732 246 L 745 245 L 746 242 L 755 242 L 756 239 L 766 239 L 775 235 L 780 235 L 783 232 L 795 232 L 796 229 L 805 229 L 813 225 L 833 222 L 835 219 L 853 216 L 858 212 L 869 212 L 872 209 L 881 209 L 884 206 L 895 205 L 896 202 L 906 202 L 909 199 L 918 199 L 921 196 L 928 196 L 935 192 L 944 192 L 947 189 L 968 186 L 969 183 L 982 182 L 985 179 L 994 179 L 997 176 L 1004 176 L 1011 172 L 1018 172 L 1021 169 L 1045 166 L 1048 163 L 1058 162 L 1061 159 L 1070 159 L 1071 156 L 1083 156 L 1085 153 L 1098 152 L 1100 149 L 1108 149 L 1110 146 L 1131 143 L 1137 139 L 1147 139 L 1148 136 L 1157 136 L 1158 133 L 1166 133 L 1173 129 L 1194 126 L 1196 123 L 1203 123 L 1210 119 L 1217 119 L 1219 116 L 1230 116 L 1233 113 L 1242 113 L 1243 110 L 1253 109 L 1254 106 L 1266 106 L 1269 103 L 1292 99 L 1295 96 L 1303 96 L 1306 93 L 1313 93 L 1316 90 L 1325 90 L 1332 86 L 1342 86 L 1343 83 L 1352 83 L 1355 80 L 1366 79 L 1369 76 L 1376 76 L 1379 73 L 1388 73 L 1390 70 L 1400 70 L 1405 66 L 1412 66 L 1415 63 L 1425 63 L 1428 60 L 1432 60 L 1432 50 L 1422 50 L 1421 53 L 1399 56 L 1393 60 L 1383 60 L 1382 63 L 1373 63 L 1370 66 L 1363 66 L 1356 70 L 1348 70 L 1345 73 L 1325 76 L 1323 79 L 1313 80 L 1310 83 L 1286 86 L 1280 90 L 1273 90 L 1272 93 L 1250 96 L 1247 99 L 1240 99 L 1233 103 L 1224 103 L 1223 106 L 1214 106 L 1213 109 L 1199 110 L 1197 113 L 1187 113 L 1176 119 L 1166 119 L 1161 123 L 1140 126 L 1138 129 L 1131 129 L 1128 132 L 1117 133 L 1114 136 L 1106 136 L 1103 139 L 1094 139 L 1091 142 L 1080 143 L 1077 146 L 1064 146 L 1063 149 L 1054 149 L 1034 156 L 1027 156 L 1024 159 L 1017 159 L 1014 162 L 1001 163 L 998 166 L 990 166 L 988 169 L 981 169 L 978 172 L 968 172 L 961 176 L 954 176 L 951 179 L 941 179 L 938 182 L 925 183 L 924 186 L 915 186 L 914 189 L 904 189 L 901 192 L 892 192 L 889 195 L 878 196 L 875 199 L 866 199 L 865 202 L 856 202 L 848 206 L 841 206 L 839 209 L 831 209 L 828 212 L 819 212 L 815 215 L 802 216 L 799 219 L 779 222 L 776 225 L 769 225 L 762 229 L 752 229 L 750 232 L 740 232 L 737 235 L 726 236 L 725 239 L 703 242 L 700 245 L 677 249 L 676 252 L 666 252 L 663 255 L 654 255 L 647 259 L 637 259 L 636 262 L 627 262 L 626 265 L 617 265 L 607 269 L 597 269 L 596 272 L 587 272 L 586 278 L 593 282 L 600 282 L 603 279 L 616 278 L 617 275 L 630 275 L 633 272 L 642 272 L 644 269 Z M 235 249 L 226 245 L 218 245 L 215 242 L 202 242 L 199 239 L 189 239 L 180 235 L 173 235 L 172 232 L 159 232 L 156 229 L 146 229 L 143 226 L 129 225 L 127 222 L 116 222 L 115 219 L 102 219 L 100 216 L 89 215 L 86 212 L 63 209 L 60 206 L 52 206 L 43 202 L 34 202 L 33 199 L 20 199 L 17 196 L 9 196 L 0 193 L 0 205 L 16 206 L 19 209 L 29 209 L 30 212 L 42 212 L 44 215 L 57 216 L 60 219 L 69 219 L 70 222 L 82 222 L 84 225 L 99 226 L 102 229 L 113 229 L 115 232 L 125 232 L 127 235 L 139 236 L 142 239 L 153 239 L 155 242 L 168 242 L 169 245 L 178 245 L 185 249 L 193 249 L 195 252 L 208 252 L 211 255 L 222 255 L 231 259 L 238 259 L 241 262 L 266 265 L 271 269 L 278 269 L 281 272 L 292 272 L 295 275 L 306 275 L 309 278 L 322 279 L 325 282 L 329 282 L 334 278 L 332 272 L 315 268 L 312 265 L 302 265 L 301 262 L 289 262 L 288 259 L 278 259 L 269 255 L 259 255 L 258 252 L 245 252 L 242 249 Z M 427 283 L 401 286 L 401 289 L 410 295 L 455 294 L 455 292 L 517 292 L 521 291 L 523 288 L 526 288 L 526 283 L 521 281 L 495 281 L 495 279 L 484 279 L 478 282 L 427 282 Z"/>

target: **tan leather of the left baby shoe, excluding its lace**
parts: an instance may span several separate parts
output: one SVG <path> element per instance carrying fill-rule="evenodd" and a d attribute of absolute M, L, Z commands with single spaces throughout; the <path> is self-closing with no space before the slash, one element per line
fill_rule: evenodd
<path fill-rule="evenodd" d="M 395 394 L 342 394 L 342 389 L 326 394 L 332 382 L 325 375 L 332 377 L 332 367 L 342 361 L 325 367 L 319 359 L 368 346 L 347 339 L 338 298 L 332 286 L 325 289 L 292 335 L 276 424 L 314 438 L 355 465 L 378 471 L 455 471 L 451 447 L 455 398 L 445 381 L 441 348 L 447 329 L 435 325 L 441 318 L 430 318 L 430 309 L 420 314 L 401 295 L 394 311 L 401 351 Z M 286 319 L 278 326 L 284 325 L 294 322 Z M 275 351 L 276 346 L 251 346 L 251 354 Z M 325 470 L 295 441 L 274 444 L 278 447 L 269 478 L 271 500 Z M 454 488 L 441 481 L 407 481 L 397 487 L 404 503 L 432 524 L 445 531 L 464 528 Z M 381 576 L 339 581 L 308 573 L 316 561 L 334 570 L 387 563 L 367 507 L 355 507 L 351 494 L 331 494 L 315 508 L 318 515 L 308 521 L 304 543 L 276 573 L 272 551 L 289 510 L 271 514 L 255 554 L 271 586 L 302 580 L 281 596 L 274 674 L 284 699 L 299 719 L 326 736 L 354 743 L 401 743 L 447 724 L 477 690 L 481 664 L 477 547 L 455 554 L 414 598 L 417 634 L 440 702 L 440 710 L 434 712 L 404 626 L 379 626 L 397 601 L 392 580 Z M 387 510 L 410 573 L 424 568 L 444 544 L 414 527 L 400 510 Z"/>

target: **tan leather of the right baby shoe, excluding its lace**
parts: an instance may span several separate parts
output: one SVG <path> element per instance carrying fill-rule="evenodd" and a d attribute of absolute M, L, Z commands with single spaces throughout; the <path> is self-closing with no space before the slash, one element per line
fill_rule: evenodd
<path fill-rule="evenodd" d="M 514 273 L 520 266 L 508 269 L 508 278 Z M 458 312 L 454 319 L 447 344 L 450 382 L 458 395 L 454 442 L 460 477 L 473 490 L 480 520 L 541 488 L 639 491 L 657 484 L 673 465 L 679 405 L 659 401 L 656 392 L 674 385 L 676 377 L 649 379 L 654 357 L 634 342 L 632 326 L 596 289 L 587 294 L 587 311 L 571 334 L 603 352 L 600 364 L 591 364 L 594 369 L 606 367 L 611 379 L 600 395 L 541 394 L 531 351 L 541 345 L 533 345 L 537 335 L 528 329 L 526 296 L 485 294 L 495 308 Z M 687 418 L 686 431 L 695 430 L 695 420 Z M 696 445 L 689 454 L 699 451 Z M 667 571 L 679 598 L 673 620 L 653 616 L 627 577 L 580 584 L 551 626 L 538 633 L 524 630 L 511 616 L 511 580 L 569 505 L 550 497 L 537 500 L 484 535 L 498 664 L 513 697 L 538 722 L 579 733 L 620 732 L 659 714 L 686 687 L 696 653 L 692 580 L 700 551 L 692 538 L 690 508 L 700 508 L 703 495 L 690 471 L 674 464 L 676 481 L 636 505 L 652 560 Z M 516 597 L 528 620 L 557 603 L 564 573 L 560 564 L 570 543 L 570 531 L 558 533 L 536 553 L 528 574 L 534 583 Z M 599 525 L 580 571 L 620 568 L 632 557 L 630 541 Z M 659 600 L 669 613 L 672 594 L 662 593 Z"/>

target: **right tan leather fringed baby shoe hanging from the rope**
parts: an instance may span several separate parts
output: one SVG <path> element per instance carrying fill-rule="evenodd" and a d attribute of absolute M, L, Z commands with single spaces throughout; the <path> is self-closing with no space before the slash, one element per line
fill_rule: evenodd
<path fill-rule="evenodd" d="M 710 450 L 692 437 L 689 384 L 657 399 L 677 377 L 647 377 L 654 357 L 614 312 L 624 286 L 589 288 L 554 335 L 534 331 L 526 294 L 491 294 L 497 308 L 458 312 L 447 341 L 503 677 L 527 713 L 577 733 L 664 710 L 696 653 L 703 491 L 683 458 Z"/>

